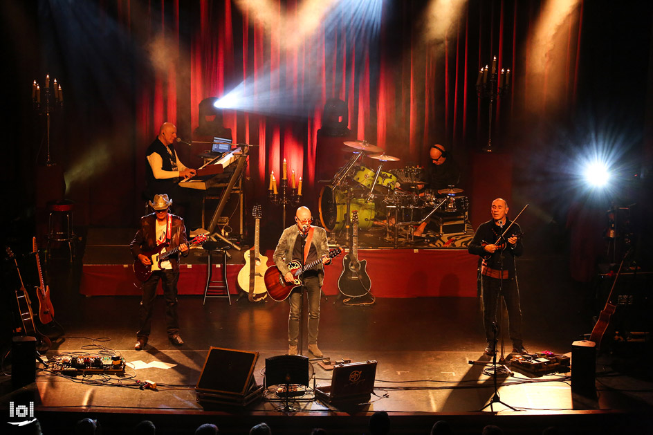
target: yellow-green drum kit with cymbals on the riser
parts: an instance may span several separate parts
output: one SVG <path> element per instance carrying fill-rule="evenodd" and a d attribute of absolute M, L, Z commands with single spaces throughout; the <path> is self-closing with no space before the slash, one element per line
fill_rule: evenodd
<path fill-rule="evenodd" d="M 322 226 L 329 233 L 341 234 L 351 228 L 351 212 L 358 211 L 358 229 L 371 230 L 376 224 L 385 225 L 386 237 L 398 246 L 400 234 L 405 243 L 413 243 L 413 232 L 433 214 L 456 216 L 466 214 L 468 200 L 463 191 L 450 186 L 433 191 L 424 189 L 424 169 L 403 167 L 384 170 L 386 162 L 400 159 L 385 154 L 382 148 L 369 142 L 347 141 L 352 156 L 320 190 L 318 209 Z M 366 159 L 378 165 L 366 165 Z"/>

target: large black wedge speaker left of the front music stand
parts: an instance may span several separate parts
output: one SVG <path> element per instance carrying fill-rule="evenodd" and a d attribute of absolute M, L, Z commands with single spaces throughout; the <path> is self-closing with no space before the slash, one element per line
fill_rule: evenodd
<path fill-rule="evenodd" d="M 244 396 L 253 383 L 258 352 L 211 346 L 195 390 L 200 393 Z"/>

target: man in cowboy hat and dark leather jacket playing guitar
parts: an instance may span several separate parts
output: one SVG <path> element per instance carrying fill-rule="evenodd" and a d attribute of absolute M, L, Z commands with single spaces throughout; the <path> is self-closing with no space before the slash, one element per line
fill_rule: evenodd
<path fill-rule="evenodd" d="M 167 194 L 154 195 L 154 201 L 149 201 L 149 206 L 154 213 L 140 218 L 140 229 L 136 232 L 134 240 L 131 241 L 131 254 L 144 266 L 151 264 L 151 258 L 143 254 L 156 250 L 163 243 L 168 243 L 165 248 L 172 250 L 179 248 L 181 254 L 188 255 L 186 239 L 186 228 L 183 219 L 169 213 L 172 199 Z M 177 315 L 177 281 L 179 279 L 179 255 L 178 253 L 161 261 L 160 270 L 154 270 L 150 277 L 142 284 L 142 300 L 139 309 L 139 329 L 136 333 L 136 344 L 134 349 L 140 351 L 147 344 L 151 329 L 152 310 L 154 299 L 156 299 L 156 287 L 158 281 L 163 286 L 163 297 L 165 299 L 165 326 L 168 338 L 175 346 L 181 346 L 183 340 L 179 336 L 179 322 Z"/>

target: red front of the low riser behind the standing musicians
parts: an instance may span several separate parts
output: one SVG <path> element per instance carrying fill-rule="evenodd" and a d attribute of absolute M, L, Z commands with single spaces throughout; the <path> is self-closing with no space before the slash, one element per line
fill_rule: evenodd
<path fill-rule="evenodd" d="M 266 255 L 272 261 L 273 252 Z M 358 258 L 367 260 L 371 293 L 376 297 L 475 297 L 477 257 L 466 250 L 359 250 Z M 221 268 L 213 266 L 213 278 Z M 238 292 L 236 277 L 243 265 L 228 264 L 227 279 L 231 293 Z M 326 266 L 324 293 L 338 293 L 342 272 L 342 254 Z M 203 295 L 207 268 L 203 264 L 182 264 L 178 290 L 180 295 Z M 86 296 L 140 295 L 131 265 L 85 264 L 80 293 Z M 140 284 L 140 283 L 139 283 Z M 160 289 L 159 289 L 160 292 Z"/>

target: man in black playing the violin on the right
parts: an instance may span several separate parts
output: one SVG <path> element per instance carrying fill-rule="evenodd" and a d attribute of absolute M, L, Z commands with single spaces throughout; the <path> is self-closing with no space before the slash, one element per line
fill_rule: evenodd
<path fill-rule="evenodd" d="M 468 248 L 470 254 L 481 257 L 481 299 L 488 342 L 485 349 L 487 355 L 494 355 L 496 352 L 493 323 L 497 322 L 497 309 L 501 306 L 499 297 L 503 297 L 508 309 L 508 329 L 513 341 L 513 353 L 528 353 L 522 342 L 522 311 L 519 308 L 519 287 L 515 269 L 515 257 L 522 255 L 524 247 L 519 240 L 519 225 L 508 219 L 508 210 L 508 203 L 504 199 L 497 198 L 492 201 L 492 219 L 479 225 Z M 500 325 L 498 322 L 496 324 L 498 336 Z"/>

